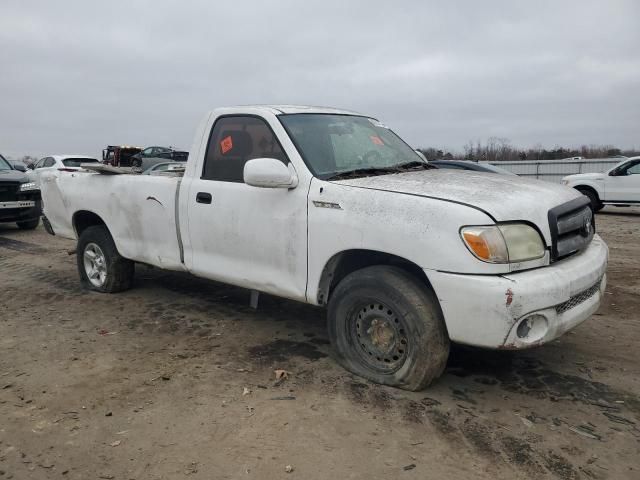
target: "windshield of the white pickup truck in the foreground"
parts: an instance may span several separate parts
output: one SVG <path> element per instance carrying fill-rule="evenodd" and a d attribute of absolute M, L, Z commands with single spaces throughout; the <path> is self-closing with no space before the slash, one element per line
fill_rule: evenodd
<path fill-rule="evenodd" d="M 354 170 L 425 164 L 400 137 L 372 118 L 308 113 L 278 118 L 319 178 Z"/>

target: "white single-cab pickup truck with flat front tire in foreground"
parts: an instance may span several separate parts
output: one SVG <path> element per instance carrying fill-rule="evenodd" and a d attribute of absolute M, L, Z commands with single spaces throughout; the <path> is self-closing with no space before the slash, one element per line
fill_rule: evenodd
<path fill-rule="evenodd" d="M 49 233 L 78 239 L 88 288 L 129 288 L 137 262 L 326 305 L 338 361 L 411 390 L 442 373 L 450 341 L 557 338 L 606 282 L 580 192 L 432 169 L 343 110 L 220 108 L 181 177 L 62 172 L 43 195 Z"/>

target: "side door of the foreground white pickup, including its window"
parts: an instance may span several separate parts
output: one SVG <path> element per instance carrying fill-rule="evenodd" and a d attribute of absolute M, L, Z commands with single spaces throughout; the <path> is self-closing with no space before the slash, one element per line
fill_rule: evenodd
<path fill-rule="evenodd" d="M 201 277 L 304 301 L 308 185 L 244 183 L 248 160 L 266 157 L 289 164 L 264 119 L 219 117 L 207 134 L 204 166 L 188 186 L 187 267 Z"/>

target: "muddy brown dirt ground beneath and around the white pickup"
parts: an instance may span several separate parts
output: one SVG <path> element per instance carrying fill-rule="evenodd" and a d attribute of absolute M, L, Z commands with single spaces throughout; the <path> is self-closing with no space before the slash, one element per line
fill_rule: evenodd
<path fill-rule="evenodd" d="M 84 291 L 73 242 L 1 226 L 0 480 L 638 479 L 640 209 L 597 224 L 592 319 L 531 351 L 455 348 L 418 393 L 338 367 L 321 309 L 146 267 Z"/>

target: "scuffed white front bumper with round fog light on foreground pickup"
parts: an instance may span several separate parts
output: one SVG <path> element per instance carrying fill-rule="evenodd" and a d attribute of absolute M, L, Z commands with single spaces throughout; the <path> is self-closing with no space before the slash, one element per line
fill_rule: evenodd
<path fill-rule="evenodd" d="M 452 341 L 486 348 L 542 345 L 600 306 L 609 250 L 596 235 L 579 254 L 506 275 L 427 270 Z"/>

